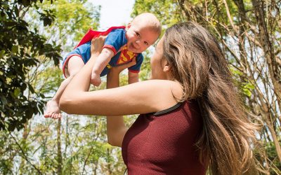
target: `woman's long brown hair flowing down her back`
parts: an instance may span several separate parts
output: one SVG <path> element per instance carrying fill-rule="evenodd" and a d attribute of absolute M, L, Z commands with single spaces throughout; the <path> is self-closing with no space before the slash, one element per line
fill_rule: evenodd
<path fill-rule="evenodd" d="M 174 25 L 165 33 L 164 59 L 183 85 L 182 100 L 197 99 L 200 105 L 203 127 L 196 145 L 211 174 L 255 174 L 256 126 L 247 118 L 216 38 L 194 22 Z"/>

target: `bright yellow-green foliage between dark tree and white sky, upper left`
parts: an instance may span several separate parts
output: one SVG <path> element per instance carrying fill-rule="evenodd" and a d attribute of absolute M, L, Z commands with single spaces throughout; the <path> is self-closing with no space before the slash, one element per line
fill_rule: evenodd
<path fill-rule="evenodd" d="M 56 20 L 42 34 L 57 44 L 63 45 L 63 51 L 69 52 L 88 29 L 99 26 L 100 6 L 87 1 L 60 0 L 53 4 L 42 3 L 41 8 L 53 11 Z"/>

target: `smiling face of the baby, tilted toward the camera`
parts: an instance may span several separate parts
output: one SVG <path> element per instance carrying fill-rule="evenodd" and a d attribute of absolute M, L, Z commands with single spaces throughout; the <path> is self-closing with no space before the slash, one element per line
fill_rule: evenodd
<path fill-rule="evenodd" d="M 159 34 L 142 22 L 135 22 L 126 32 L 127 48 L 131 52 L 141 53 L 155 43 Z"/>

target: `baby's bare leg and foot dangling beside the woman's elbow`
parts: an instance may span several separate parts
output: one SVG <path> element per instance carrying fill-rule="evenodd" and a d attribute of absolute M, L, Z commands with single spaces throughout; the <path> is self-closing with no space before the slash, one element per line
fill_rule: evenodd
<path fill-rule="evenodd" d="M 46 113 L 44 114 L 45 118 L 61 118 L 60 109 L 58 106 L 60 97 L 62 96 L 65 87 L 67 87 L 67 85 L 70 83 L 70 80 L 82 69 L 83 66 L 84 62 L 81 57 L 73 56 L 69 59 L 67 62 L 68 73 L 66 74 L 69 74 L 70 76 L 63 80 L 53 99 L 47 102 Z"/>

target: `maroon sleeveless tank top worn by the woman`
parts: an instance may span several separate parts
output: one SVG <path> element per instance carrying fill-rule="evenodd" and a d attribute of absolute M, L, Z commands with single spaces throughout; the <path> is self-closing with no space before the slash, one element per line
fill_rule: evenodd
<path fill-rule="evenodd" d="M 197 102 L 141 114 L 122 143 L 128 174 L 206 174 L 194 146 L 201 130 Z"/>

